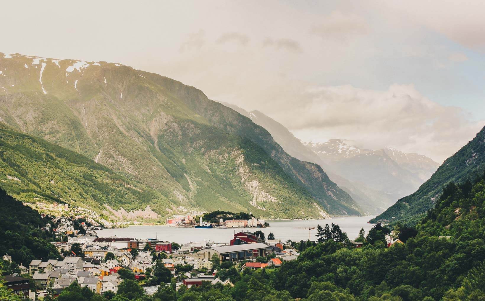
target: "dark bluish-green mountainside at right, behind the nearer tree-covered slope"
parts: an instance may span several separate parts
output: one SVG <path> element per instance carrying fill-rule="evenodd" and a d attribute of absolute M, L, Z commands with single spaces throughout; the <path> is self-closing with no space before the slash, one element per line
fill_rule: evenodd
<path fill-rule="evenodd" d="M 446 159 L 433 176 L 409 196 L 399 199 L 372 222 L 416 223 L 434 207 L 449 182 L 464 183 L 477 178 L 485 169 L 485 127 L 463 148 Z"/>

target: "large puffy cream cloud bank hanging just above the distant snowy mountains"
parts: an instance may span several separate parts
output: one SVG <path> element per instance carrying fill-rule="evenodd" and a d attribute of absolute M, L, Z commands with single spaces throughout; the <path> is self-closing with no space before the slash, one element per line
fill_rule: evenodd
<path fill-rule="evenodd" d="M 273 114 L 302 140 L 351 139 L 369 148 L 395 147 L 437 162 L 465 145 L 485 121 L 458 107 L 439 105 L 413 85 L 388 90 L 350 85 L 307 89 L 291 111 Z"/>

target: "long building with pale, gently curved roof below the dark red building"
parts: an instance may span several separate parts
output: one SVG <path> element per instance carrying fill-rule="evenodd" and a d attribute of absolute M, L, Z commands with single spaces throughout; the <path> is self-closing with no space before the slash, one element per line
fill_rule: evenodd
<path fill-rule="evenodd" d="M 255 259 L 258 256 L 265 256 L 264 250 L 268 245 L 262 242 L 238 244 L 233 246 L 204 248 L 195 253 L 195 260 L 210 260 L 214 254 L 219 256 L 221 261 L 236 261 L 244 259 Z"/>

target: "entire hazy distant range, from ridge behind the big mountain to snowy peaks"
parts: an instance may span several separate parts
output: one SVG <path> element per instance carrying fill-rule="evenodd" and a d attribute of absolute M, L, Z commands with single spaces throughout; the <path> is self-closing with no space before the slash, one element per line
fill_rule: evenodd
<path fill-rule="evenodd" d="M 236 105 L 224 105 L 268 130 L 291 156 L 322 166 L 329 178 L 369 214 L 381 213 L 397 199 L 414 192 L 439 166 L 424 155 L 392 148 L 361 149 L 349 140 L 303 142 L 281 123 L 259 111 L 247 112 Z"/>

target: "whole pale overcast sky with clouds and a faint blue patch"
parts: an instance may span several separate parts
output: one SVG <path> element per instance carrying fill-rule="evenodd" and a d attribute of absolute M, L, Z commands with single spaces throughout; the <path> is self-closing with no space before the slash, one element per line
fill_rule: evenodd
<path fill-rule="evenodd" d="M 485 1 L 8 1 L 0 52 L 111 61 L 305 141 L 441 163 L 485 120 Z"/>

